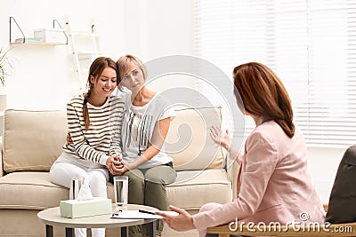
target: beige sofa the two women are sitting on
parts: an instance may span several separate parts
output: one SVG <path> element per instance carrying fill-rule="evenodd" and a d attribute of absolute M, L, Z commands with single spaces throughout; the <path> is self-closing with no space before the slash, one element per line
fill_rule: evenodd
<path fill-rule="evenodd" d="M 221 122 L 220 107 L 176 110 L 168 132 L 166 150 L 174 158 L 177 179 L 167 186 L 170 204 L 190 213 L 206 202 L 232 200 L 231 180 L 236 167 L 227 165 L 223 149 L 208 135 L 211 124 Z M 52 163 L 61 154 L 67 132 L 64 111 L 7 110 L 4 113 L 0 164 L 0 236 L 44 236 L 36 214 L 69 198 L 69 190 L 49 179 Z M 113 199 L 113 186 L 108 195 Z M 165 225 L 163 236 L 197 236 L 196 231 L 176 233 Z M 55 236 L 64 229 L 54 227 Z M 118 236 L 108 229 L 107 236 Z"/>

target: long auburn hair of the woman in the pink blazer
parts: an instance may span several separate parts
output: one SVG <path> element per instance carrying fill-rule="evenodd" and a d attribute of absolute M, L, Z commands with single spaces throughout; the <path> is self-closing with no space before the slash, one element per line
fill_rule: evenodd
<path fill-rule="evenodd" d="M 263 116 L 263 122 L 277 122 L 287 136 L 293 138 L 295 124 L 291 100 L 271 68 L 258 62 L 242 64 L 233 69 L 233 79 L 239 108 L 250 115 Z"/>

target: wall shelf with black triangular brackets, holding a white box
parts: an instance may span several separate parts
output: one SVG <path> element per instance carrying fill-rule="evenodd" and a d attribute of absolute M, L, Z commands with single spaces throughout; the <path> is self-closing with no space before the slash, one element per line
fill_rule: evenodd
<path fill-rule="evenodd" d="M 20 31 L 20 34 L 21 34 L 21 38 L 16 39 L 15 41 L 12 40 L 12 22 L 15 24 L 16 28 Z M 58 20 L 53 20 L 53 29 L 55 28 L 56 24 L 63 32 L 63 35 L 66 38 L 66 42 L 63 42 L 63 43 L 61 43 L 61 42 L 59 42 L 59 43 L 57 43 L 57 42 L 53 42 L 53 43 L 51 43 L 51 42 L 28 42 L 28 41 L 31 41 L 31 39 L 34 41 L 36 41 L 36 40 L 34 38 L 26 37 L 25 34 L 23 33 L 22 29 L 20 28 L 20 25 L 17 23 L 17 21 L 13 17 L 10 17 L 10 44 L 31 44 L 31 45 L 52 45 L 52 46 L 68 44 L 68 36 L 64 32 L 64 30 L 61 27 L 61 24 L 60 24 L 60 22 L 58 22 Z"/>

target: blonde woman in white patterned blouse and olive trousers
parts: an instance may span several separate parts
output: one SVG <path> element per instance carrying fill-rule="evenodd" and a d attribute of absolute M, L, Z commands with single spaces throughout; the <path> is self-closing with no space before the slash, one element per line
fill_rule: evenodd
<path fill-rule="evenodd" d="M 117 79 L 125 101 L 121 129 L 124 168 L 110 170 L 129 178 L 129 203 L 167 209 L 166 185 L 174 182 L 173 160 L 164 152 L 166 134 L 174 118 L 169 101 L 145 86 L 147 70 L 132 55 L 117 60 Z M 157 234 L 161 235 L 159 221 Z M 130 236 L 142 236 L 141 230 L 130 228 Z"/>

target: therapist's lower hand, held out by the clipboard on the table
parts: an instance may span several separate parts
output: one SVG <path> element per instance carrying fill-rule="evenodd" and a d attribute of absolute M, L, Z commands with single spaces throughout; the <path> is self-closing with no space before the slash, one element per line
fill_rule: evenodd
<path fill-rule="evenodd" d="M 169 225 L 170 228 L 176 231 L 188 231 L 195 229 L 193 224 L 193 217 L 185 211 L 184 209 L 176 208 L 174 206 L 169 206 L 170 210 L 177 212 L 178 216 L 172 216 L 164 212 L 156 212 L 157 215 L 163 217 L 163 220 Z"/>

